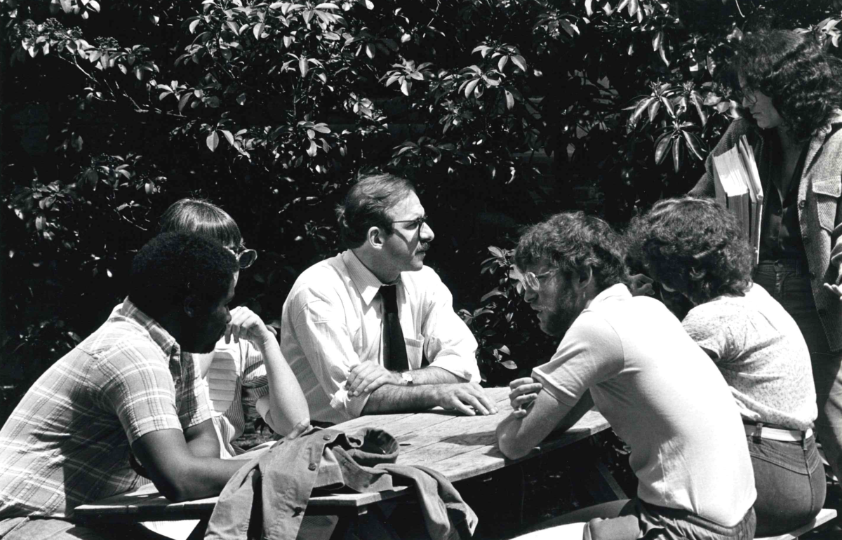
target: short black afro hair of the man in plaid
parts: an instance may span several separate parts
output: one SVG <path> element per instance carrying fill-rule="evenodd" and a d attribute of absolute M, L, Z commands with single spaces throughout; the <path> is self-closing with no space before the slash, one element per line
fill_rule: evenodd
<path fill-rule="evenodd" d="M 237 257 L 206 236 L 166 232 L 141 247 L 131 262 L 129 299 L 153 319 L 181 310 L 184 299 L 210 305 L 225 296 Z"/>

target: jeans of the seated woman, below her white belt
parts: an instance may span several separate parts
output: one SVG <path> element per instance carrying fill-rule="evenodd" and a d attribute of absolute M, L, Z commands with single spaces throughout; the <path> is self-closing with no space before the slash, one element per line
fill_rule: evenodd
<path fill-rule="evenodd" d="M 827 490 L 816 439 L 784 442 L 746 438 L 757 488 L 757 536 L 790 532 L 812 520 L 822 509 Z"/>

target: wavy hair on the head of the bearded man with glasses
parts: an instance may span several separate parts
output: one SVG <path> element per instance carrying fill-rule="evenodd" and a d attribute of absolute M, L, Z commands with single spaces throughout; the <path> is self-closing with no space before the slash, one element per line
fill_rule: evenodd
<path fill-rule="evenodd" d="M 629 281 L 621 236 L 604 220 L 583 212 L 555 214 L 520 236 L 514 253 L 518 267 L 545 260 L 567 278 L 585 276 L 590 269 L 600 291 Z"/>

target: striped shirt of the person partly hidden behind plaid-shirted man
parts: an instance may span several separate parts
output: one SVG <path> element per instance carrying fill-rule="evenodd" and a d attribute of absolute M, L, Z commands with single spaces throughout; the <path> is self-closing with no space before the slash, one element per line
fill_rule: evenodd
<path fill-rule="evenodd" d="M 221 339 L 214 352 L 189 356 L 195 358 L 200 373 L 205 372 L 202 363 L 210 362 L 205 374 L 205 391 L 219 436 L 220 457 L 231 458 L 242 453 L 234 441 L 245 430 L 246 419 L 258 417 L 258 400 L 269 395 L 263 355 L 248 341 L 226 343 Z"/>

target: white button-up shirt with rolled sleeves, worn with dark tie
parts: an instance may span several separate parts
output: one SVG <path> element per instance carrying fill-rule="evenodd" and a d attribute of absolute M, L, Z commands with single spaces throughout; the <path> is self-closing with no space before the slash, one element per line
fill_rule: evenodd
<path fill-rule="evenodd" d="M 316 421 L 341 422 L 362 413 L 369 394 L 351 396 L 345 383 L 360 362 L 384 365 L 379 279 L 353 251 L 307 268 L 284 303 L 280 348 Z M 429 365 L 479 382 L 477 341 L 453 311 L 450 291 L 432 268 L 404 272 L 397 310 L 410 369 Z"/>

